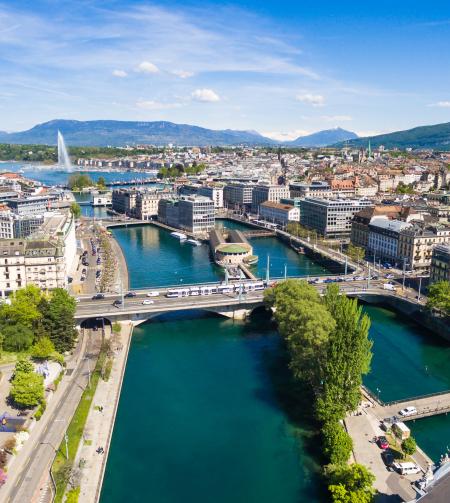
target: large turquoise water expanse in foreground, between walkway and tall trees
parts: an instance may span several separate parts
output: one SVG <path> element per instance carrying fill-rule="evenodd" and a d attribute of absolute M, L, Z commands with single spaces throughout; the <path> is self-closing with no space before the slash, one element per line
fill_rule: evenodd
<path fill-rule="evenodd" d="M 322 501 L 314 433 L 288 419 L 283 378 L 267 321 L 181 314 L 138 327 L 101 502 Z"/>

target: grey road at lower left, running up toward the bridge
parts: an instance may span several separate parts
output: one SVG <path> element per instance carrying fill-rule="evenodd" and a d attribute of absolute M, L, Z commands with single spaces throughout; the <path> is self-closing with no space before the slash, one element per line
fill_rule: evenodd
<path fill-rule="evenodd" d="M 79 349 L 68 364 L 66 375 L 49 402 L 41 421 L 37 422 L 29 440 L 19 451 L 8 471 L 8 480 L 1 489 L 1 501 L 24 503 L 33 501 L 43 475 L 49 470 L 81 394 L 88 384 L 101 345 L 101 332 L 86 333 Z"/>

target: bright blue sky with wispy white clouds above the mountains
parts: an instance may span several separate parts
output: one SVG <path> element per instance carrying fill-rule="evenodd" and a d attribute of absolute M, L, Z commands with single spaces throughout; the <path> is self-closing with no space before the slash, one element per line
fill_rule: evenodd
<path fill-rule="evenodd" d="M 0 130 L 53 119 L 276 139 L 449 122 L 450 2 L 0 0 Z"/>

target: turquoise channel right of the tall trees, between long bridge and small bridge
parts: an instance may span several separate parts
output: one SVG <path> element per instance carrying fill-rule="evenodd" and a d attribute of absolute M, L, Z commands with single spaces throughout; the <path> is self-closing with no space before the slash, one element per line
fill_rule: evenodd
<path fill-rule="evenodd" d="M 364 383 L 387 402 L 450 389 L 450 344 L 389 309 L 366 305 L 374 341 Z M 450 422 L 450 421 L 449 421 Z"/>

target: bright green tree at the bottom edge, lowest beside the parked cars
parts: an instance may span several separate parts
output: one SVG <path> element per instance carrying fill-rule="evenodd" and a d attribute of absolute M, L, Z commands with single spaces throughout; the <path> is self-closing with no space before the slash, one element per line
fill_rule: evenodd
<path fill-rule="evenodd" d="M 360 464 L 338 465 L 328 470 L 328 489 L 333 503 L 371 503 L 375 476 Z"/>

